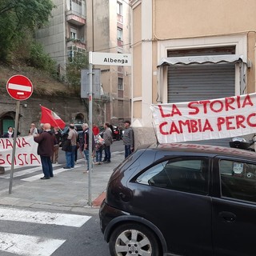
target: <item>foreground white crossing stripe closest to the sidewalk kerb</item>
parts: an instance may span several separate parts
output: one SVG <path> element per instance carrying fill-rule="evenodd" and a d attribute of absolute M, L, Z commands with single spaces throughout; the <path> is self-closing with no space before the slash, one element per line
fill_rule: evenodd
<path fill-rule="evenodd" d="M 0 209 L 0 221 L 81 227 L 89 219 L 90 216 L 78 214 L 58 214 L 44 211 L 18 210 L 14 208 Z"/>

